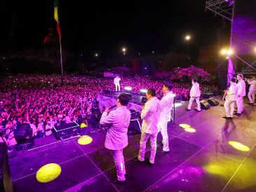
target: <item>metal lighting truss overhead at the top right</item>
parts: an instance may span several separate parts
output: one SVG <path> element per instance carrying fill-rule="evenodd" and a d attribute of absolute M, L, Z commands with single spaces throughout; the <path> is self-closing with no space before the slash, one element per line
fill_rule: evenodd
<path fill-rule="evenodd" d="M 234 0 L 206 1 L 206 11 L 212 11 L 226 20 L 232 21 Z"/>

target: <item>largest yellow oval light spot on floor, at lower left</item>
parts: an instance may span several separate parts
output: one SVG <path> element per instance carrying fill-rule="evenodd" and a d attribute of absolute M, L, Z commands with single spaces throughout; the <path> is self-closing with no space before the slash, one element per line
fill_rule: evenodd
<path fill-rule="evenodd" d="M 43 165 L 37 172 L 36 172 L 36 180 L 40 183 L 48 183 L 53 181 L 57 177 L 60 176 L 61 167 L 56 163 L 49 163 Z"/>

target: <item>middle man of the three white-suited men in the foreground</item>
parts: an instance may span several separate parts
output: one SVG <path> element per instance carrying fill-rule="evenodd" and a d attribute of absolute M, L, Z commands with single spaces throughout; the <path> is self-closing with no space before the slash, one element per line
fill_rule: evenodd
<path fill-rule="evenodd" d="M 147 163 L 149 165 L 154 165 L 154 160 L 156 156 L 156 137 L 159 133 L 158 123 L 160 116 L 160 101 L 156 97 L 156 90 L 148 89 L 146 93 L 147 102 L 144 107 L 142 107 L 141 118 L 142 121 L 142 135 L 140 138 L 140 151 L 137 158 L 138 162 L 144 161 L 144 154 L 146 149 L 147 139 L 150 138 L 151 144 L 151 154 Z"/>

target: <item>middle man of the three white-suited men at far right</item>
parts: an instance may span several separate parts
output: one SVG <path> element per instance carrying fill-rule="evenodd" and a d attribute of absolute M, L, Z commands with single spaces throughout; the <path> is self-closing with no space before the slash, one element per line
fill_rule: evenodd
<path fill-rule="evenodd" d="M 245 96 L 245 81 L 243 81 L 243 75 L 238 74 L 236 76 L 236 79 L 238 80 L 238 97 L 236 100 L 236 105 L 237 105 L 237 116 L 241 116 L 243 112 L 243 97 Z"/>

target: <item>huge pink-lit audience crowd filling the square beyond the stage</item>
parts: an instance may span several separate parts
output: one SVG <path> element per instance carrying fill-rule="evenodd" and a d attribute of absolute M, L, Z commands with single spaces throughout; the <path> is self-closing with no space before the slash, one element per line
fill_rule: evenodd
<path fill-rule="evenodd" d="M 58 75 L 19 75 L 1 78 L 0 83 L 0 130 L 1 140 L 15 144 L 13 128 L 19 123 L 29 123 L 34 137 L 51 135 L 53 125 L 62 123 L 86 123 L 88 114 L 97 105 L 97 95 L 103 90 L 114 90 L 113 78 L 92 76 L 65 76 L 60 86 Z M 141 89 L 154 88 L 161 92 L 163 81 L 150 76 L 121 78 L 121 90 L 125 86 L 140 93 Z M 178 100 L 189 99 L 189 83 L 173 83 Z M 209 87 L 209 89 L 212 87 Z"/>

